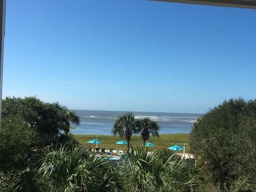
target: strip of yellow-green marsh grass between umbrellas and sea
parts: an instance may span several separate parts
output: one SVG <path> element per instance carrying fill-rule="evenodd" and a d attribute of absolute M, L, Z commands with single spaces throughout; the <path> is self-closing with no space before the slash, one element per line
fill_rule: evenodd
<path fill-rule="evenodd" d="M 95 148 L 96 145 L 86 143 L 87 141 L 91 139 L 96 139 L 96 135 L 86 135 L 86 134 L 73 134 L 75 139 L 81 143 L 81 145 L 84 145 L 86 147 L 92 147 Z M 183 144 L 185 143 L 185 152 L 191 153 L 190 146 L 188 143 L 190 134 L 161 134 L 159 137 L 150 137 L 147 142 L 154 143 L 157 145 L 156 147 L 149 147 L 149 150 L 155 150 L 158 148 L 167 149 L 170 146 L 173 145 L 179 145 L 183 147 Z M 125 138 L 119 138 L 116 135 L 98 135 L 99 141 L 101 141 L 101 144 L 98 144 L 99 148 L 105 148 L 108 150 L 109 148 L 116 149 L 126 149 L 127 145 L 116 145 L 115 143 L 120 140 L 125 140 Z M 131 146 L 135 147 L 136 145 L 142 146 L 142 139 L 140 135 L 132 135 L 131 137 Z M 177 151 L 179 153 L 183 153 L 183 151 Z"/>

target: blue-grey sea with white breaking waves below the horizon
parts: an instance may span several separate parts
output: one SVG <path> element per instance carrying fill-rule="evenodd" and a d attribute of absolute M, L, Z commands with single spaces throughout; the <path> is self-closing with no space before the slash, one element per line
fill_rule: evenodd
<path fill-rule="evenodd" d="M 74 110 L 80 118 L 80 125 L 71 124 L 76 129 L 70 130 L 71 133 L 93 134 L 93 135 L 112 135 L 111 129 L 115 119 L 126 111 L 101 111 L 101 110 Z M 135 112 L 135 118 L 149 117 L 157 121 L 159 134 L 168 133 L 190 133 L 193 123 L 202 114 L 187 113 L 156 113 L 156 112 Z"/>

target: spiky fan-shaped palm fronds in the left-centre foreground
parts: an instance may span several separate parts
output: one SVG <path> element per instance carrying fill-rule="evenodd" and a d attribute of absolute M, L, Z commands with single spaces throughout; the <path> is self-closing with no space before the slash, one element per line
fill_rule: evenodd
<path fill-rule="evenodd" d="M 36 179 L 43 191 L 115 191 L 118 187 L 114 166 L 81 147 L 47 148 L 40 161 Z"/>

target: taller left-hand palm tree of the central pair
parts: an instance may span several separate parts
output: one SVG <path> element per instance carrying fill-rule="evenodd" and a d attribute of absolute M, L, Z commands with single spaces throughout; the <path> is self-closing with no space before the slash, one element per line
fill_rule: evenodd
<path fill-rule="evenodd" d="M 127 141 L 127 151 L 129 151 L 132 133 L 138 133 L 139 131 L 140 129 L 136 126 L 133 113 L 129 112 L 117 117 L 111 132 L 119 137 L 125 137 Z"/>

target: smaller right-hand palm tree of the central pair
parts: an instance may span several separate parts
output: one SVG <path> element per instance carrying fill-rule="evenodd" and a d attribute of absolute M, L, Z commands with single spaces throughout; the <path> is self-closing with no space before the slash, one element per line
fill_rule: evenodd
<path fill-rule="evenodd" d="M 153 121 L 150 118 L 146 117 L 140 119 L 137 124 L 140 127 L 140 129 L 142 129 L 141 138 L 143 140 L 143 146 L 145 146 L 146 141 L 150 138 L 150 133 L 153 136 L 159 137 L 159 125 L 157 124 L 156 121 Z"/>

